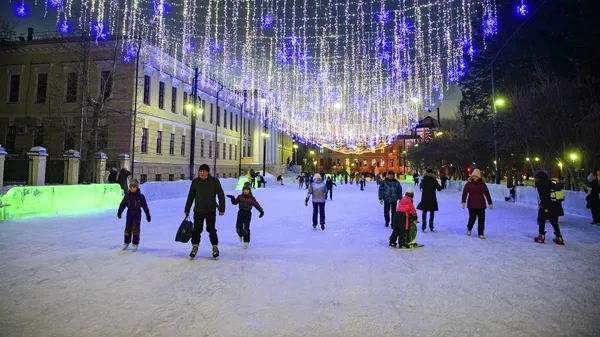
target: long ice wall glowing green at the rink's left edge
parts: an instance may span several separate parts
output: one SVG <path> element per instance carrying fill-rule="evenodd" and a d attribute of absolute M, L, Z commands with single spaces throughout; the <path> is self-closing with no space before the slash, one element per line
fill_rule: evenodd
<path fill-rule="evenodd" d="M 118 184 L 13 187 L 0 196 L 0 220 L 113 208 L 122 198 Z"/>

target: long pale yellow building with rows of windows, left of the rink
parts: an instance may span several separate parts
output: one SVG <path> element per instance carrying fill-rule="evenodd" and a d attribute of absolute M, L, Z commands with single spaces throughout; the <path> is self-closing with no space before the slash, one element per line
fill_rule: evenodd
<path fill-rule="evenodd" d="M 61 156 L 81 143 L 82 159 L 104 152 L 107 169 L 128 154 L 141 182 L 189 179 L 194 132 L 194 175 L 204 163 L 229 178 L 262 171 L 264 155 L 268 167 L 291 157 L 290 136 L 273 128 L 263 136 L 253 90 L 200 76 L 194 94 L 194 69 L 154 46 L 142 42 L 136 67 L 121 41 L 80 40 L 0 45 L 0 141 L 9 154 L 43 146 Z"/>

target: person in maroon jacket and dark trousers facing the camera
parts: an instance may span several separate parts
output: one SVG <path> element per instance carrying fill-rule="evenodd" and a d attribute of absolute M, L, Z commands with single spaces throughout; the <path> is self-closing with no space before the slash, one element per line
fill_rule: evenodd
<path fill-rule="evenodd" d="M 467 224 L 467 235 L 471 235 L 471 230 L 477 219 L 477 233 L 480 239 L 485 239 L 483 231 L 485 230 L 485 201 L 493 208 L 490 191 L 481 178 L 481 172 L 478 169 L 473 170 L 473 174 L 463 188 L 462 206 L 469 209 L 469 223 Z"/>

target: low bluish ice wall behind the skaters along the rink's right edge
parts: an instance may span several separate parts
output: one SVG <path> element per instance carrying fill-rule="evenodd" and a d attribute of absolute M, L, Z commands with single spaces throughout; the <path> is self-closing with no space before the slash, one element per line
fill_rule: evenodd
<path fill-rule="evenodd" d="M 450 180 L 447 184 L 447 189 L 451 191 L 462 191 L 465 181 Z M 506 185 L 488 184 L 490 195 L 494 203 L 499 201 L 504 202 L 504 197 L 508 196 L 508 188 Z M 567 214 L 589 216 L 590 210 L 585 208 L 585 192 L 565 191 L 565 201 L 563 201 L 563 209 Z M 538 207 L 538 194 L 535 188 L 529 186 L 517 186 L 515 193 L 516 203 Z"/>

